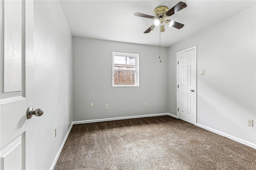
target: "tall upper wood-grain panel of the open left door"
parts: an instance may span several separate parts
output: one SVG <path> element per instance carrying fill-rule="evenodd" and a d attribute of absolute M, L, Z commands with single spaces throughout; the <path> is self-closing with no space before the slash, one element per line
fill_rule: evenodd
<path fill-rule="evenodd" d="M 4 92 L 22 91 L 22 1 L 4 2 L 4 44 Z"/>

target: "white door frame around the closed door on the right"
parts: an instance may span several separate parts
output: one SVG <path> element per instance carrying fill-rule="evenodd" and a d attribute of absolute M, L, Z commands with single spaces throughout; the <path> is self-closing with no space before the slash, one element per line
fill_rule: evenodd
<path fill-rule="evenodd" d="M 176 106 L 176 115 L 177 115 L 177 119 L 179 119 L 179 115 L 178 115 L 178 98 L 179 98 L 179 96 L 178 96 L 178 55 L 180 54 L 180 53 L 184 53 L 184 52 L 186 52 L 186 51 L 190 51 L 190 50 L 192 50 L 192 49 L 194 49 L 195 50 L 195 82 L 196 82 L 196 87 L 194 88 L 195 89 L 195 95 L 196 95 L 196 121 L 195 121 L 195 124 L 194 125 L 196 125 L 196 123 L 197 123 L 197 45 L 196 46 L 193 46 L 193 47 L 190 47 L 190 48 L 188 48 L 188 49 L 184 49 L 184 50 L 182 50 L 182 51 L 179 51 L 179 52 L 177 52 L 176 53 L 176 63 L 177 63 L 177 65 L 176 65 L 176 97 L 177 97 L 177 99 L 176 99 L 176 102 L 177 102 L 177 106 Z"/>

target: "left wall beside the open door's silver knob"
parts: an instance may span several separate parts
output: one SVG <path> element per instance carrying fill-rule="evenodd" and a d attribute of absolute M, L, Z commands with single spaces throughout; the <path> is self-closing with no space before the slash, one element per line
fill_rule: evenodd
<path fill-rule="evenodd" d="M 34 1 L 34 169 L 50 169 L 73 118 L 72 36 L 59 1 Z M 58 134 L 54 136 L 54 128 Z"/>

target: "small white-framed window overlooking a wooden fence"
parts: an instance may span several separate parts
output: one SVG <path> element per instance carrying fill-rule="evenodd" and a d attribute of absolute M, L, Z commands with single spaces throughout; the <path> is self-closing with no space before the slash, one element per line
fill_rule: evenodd
<path fill-rule="evenodd" d="M 112 57 L 112 86 L 139 86 L 139 55 L 113 52 Z"/>

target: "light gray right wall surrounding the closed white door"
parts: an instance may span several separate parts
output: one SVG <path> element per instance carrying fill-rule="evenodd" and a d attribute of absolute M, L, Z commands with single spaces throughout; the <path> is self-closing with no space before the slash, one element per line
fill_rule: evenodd
<path fill-rule="evenodd" d="M 255 6 L 168 49 L 168 112 L 176 115 L 176 53 L 197 45 L 197 122 L 256 144 Z M 205 69 L 205 75 L 200 75 Z"/>

